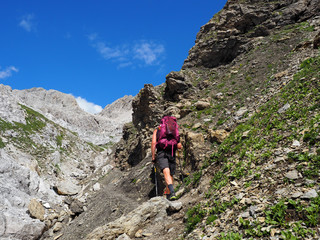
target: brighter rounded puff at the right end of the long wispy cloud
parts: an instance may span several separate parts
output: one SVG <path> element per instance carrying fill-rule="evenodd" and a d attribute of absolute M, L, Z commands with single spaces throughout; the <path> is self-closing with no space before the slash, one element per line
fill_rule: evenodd
<path fill-rule="evenodd" d="M 164 46 L 153 42 L 142 42 L 134 47 L 134 58 L 142 60 L 146 65 L 157 63 L 164 53 Z"/>

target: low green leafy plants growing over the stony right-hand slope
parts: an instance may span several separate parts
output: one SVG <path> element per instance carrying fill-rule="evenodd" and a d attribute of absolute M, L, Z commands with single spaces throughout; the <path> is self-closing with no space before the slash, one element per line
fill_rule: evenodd
<path fill-rule="evenodd" d="M 297 31 L 310 30 L 305 23 L 299 26 L 295 27 Z M 261 178 L 260 166 L 270 161 L 277 148 L 291 146 L 294 140 L 304 145 L 304 151 L 289 153 L 288 163 L 298 163 L 296 169 L 305 178 L 319 179 L 319 73 L 320 56 L 305 60 L 289 84 L 261 106 L 250 119 L 238 125 L 223 143 L 215 146 L 216 151 L 203 165 L 204 168 L 210 166 L 214 169 L 211 188 L 206 194 L 208 201 L 205 206 L 197 205 L 189 209 L 187 232 L 191 232 L 203 220 L 206 220 L 206 224 L 214 224 L 220 214 L 238 205 L 236 199 L 229 203 L 217 201 L 217 190 L 227 186 L 230 181 L 247 176 L 253 178 L 244 187 L 251 187 Z M 192 178 L 188 179 L 188 184 L 191 183 Z M 292 183 L 288 181 L 286 184 Z M 259 221 L 240 219 L 241 233 L 222 233 L 219 239 L 268 237 L 270 230 L 267 230 L 265 224 L 280 228 L 282 239 L 310 238 L 313 235 L 311 228 L 320 223 L 319 210 L 320 197 L 304 203 L 282 199 L 265 210 L 264 228 Z"/>

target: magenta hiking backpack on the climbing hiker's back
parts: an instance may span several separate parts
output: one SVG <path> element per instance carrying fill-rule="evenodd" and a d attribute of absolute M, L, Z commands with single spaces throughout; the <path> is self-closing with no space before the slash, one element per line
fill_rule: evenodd
<path fill-rule="evenodd" d="M 157 148 L 171 150 L 172 156 L 174 150 L 180 142 L 179 126 L 177 119 L 171 116 L 165 116 L 161 119 L 161 124 L 157 131 Z"/>

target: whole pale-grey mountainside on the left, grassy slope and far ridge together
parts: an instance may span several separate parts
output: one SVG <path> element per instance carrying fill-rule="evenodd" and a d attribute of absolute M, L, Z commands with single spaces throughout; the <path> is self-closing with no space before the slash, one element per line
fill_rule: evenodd
<path fill-rule="evenodd" d="M 1 239 L 38 239 L 92 174 L 112 169 L 110 147 L 131 121 L 131 101 L 126 96 L 92 115 L 68 94 L 0 85 Z"/>

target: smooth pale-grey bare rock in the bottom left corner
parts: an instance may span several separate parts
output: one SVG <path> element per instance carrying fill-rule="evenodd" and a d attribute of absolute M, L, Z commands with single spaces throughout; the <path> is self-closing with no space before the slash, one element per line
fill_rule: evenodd
<path fill-rule="evenodd" d="M 34 217 L 39 216 L 39 219 L 28 215 L 31 198 L 37 197 L 55 204 L 59 204 L 61 199 L 55 196 L 48 182 L 29 168 L 36 165 L 32 159 L 24 159 L 27 156 L 22 152 L 15 154 L 20 157 L 12 158 L 0 149 L 0 238 L 37 239 L 45 230 L 45 224 L 41 222 L 44 212 L 35 210 L 39 208 L 36 202 L 31 204 L 30 213 Z"/>

